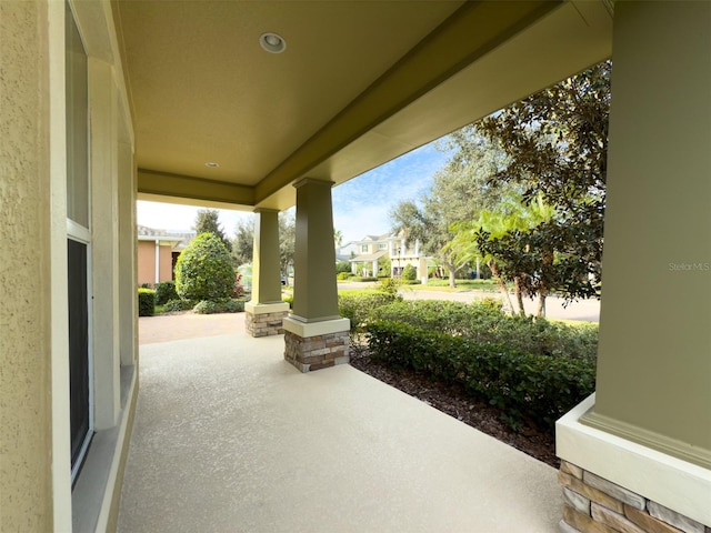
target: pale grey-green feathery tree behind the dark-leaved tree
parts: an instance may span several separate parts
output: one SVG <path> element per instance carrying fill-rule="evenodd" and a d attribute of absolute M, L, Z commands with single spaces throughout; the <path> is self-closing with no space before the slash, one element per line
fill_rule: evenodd
<path fill-rule="evenodd" d="M 455 152 L 434 174 L 430 191 L 419 204 L 400 202 L 390 219 L 392 231 L 419 240 L 424 253 L 438 258 L 449 271 L 450 286 L 455 286 L 455 275 L 469 260 L 461 261 L 448 247 L 455 235 L 452 224 L 475 219 L 497 202 L 502 188 L 490 178 L 501 168 L 504 155 L 473 129 L 453 133 L 440 148 Z"/>

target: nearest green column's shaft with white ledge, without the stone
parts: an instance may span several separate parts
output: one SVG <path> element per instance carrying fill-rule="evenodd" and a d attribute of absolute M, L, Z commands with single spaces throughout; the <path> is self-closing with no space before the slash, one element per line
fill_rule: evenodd
<path fill-rule="evenodd" d="M 558 454 L 711 525 L 711 4 L 615 3 L 612 92 L 597 394 Z"/>

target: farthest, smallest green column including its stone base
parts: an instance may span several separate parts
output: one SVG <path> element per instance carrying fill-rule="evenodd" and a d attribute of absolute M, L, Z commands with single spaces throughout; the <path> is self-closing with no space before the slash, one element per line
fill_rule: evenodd
<path fill-rule="evenodd" d="M 252 336 L 283 333 L 289 304 L 281 301 L 279 272 L 279 212 L 256 211 L 252 300 L 244 305 L 247 332 Z"/>

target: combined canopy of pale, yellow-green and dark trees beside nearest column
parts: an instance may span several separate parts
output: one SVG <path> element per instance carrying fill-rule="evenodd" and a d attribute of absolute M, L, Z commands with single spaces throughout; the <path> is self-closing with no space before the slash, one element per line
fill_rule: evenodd
<path fill-rule="evenodd" d="M 450 159 L 418 202 L 391 212 L 454 275 L 484 259 L 505 292 L 599 296 L 609 61 L 448 135 Z"/>

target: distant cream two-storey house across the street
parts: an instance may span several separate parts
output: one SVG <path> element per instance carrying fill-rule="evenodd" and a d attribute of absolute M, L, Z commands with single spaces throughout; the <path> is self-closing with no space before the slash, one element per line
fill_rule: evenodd
<path fill-rule="evenodd" d="M 417 270 L 417 279 L 427 281 L 428 258 L 420 253 L 420 241 L 409 242 L 402 233 L 397 235 L 365 235 L 361 241 L 349 243 L 356 249 L 356 257 L 349 261 L 351 271 L 363 276 L 378 275 L 378 261 L 390 259 L 390 275 L 400 278 L 408 264 Z M 341 249 L 341 253 L 342 253 Z"/>

